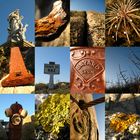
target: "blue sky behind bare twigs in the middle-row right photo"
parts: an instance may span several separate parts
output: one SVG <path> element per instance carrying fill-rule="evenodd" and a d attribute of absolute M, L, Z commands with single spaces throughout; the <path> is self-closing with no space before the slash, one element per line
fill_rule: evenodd
<path fill-rule="evenodd" d="M 133 52 L 140 56 L 140 48 L 132 48 Z M 119 65 L 121 70 L 126 70 L 125 75 L 129 78 L 132 70 L 140 74 L 140 71 L 130 61 L 132 58 L 131 48 L 126 47 L 107 47 L 106 48 L 106 81 L 117 82 L 117 74 L 119 74 Z M 109 86 L 110 84 L 108 84 Z"/>

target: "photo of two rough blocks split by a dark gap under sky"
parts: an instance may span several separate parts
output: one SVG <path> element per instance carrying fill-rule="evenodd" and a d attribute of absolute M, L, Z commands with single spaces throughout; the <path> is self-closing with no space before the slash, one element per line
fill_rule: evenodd
<path fill-rule="evenodd" d="M 105 1 L 71 0 L 70 46 L 105 46 Z"/>

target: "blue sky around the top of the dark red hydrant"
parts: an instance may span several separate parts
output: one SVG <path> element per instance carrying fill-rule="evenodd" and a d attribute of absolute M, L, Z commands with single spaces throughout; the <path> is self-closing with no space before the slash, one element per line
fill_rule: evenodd
<path fill-rule="evenodd" d="M 9 118 L 5 116 L 5 109 L 15 102 L 21 104 L 28 111 L 28 115 L 34 114 L 34 94 L 0 94 L 0 120 L 9 121 Z"/>

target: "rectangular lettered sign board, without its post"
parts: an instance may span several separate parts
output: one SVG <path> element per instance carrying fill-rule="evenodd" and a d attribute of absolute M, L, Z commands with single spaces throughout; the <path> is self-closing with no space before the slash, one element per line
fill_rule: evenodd
<path fill-rule="evenodd" d="M 55 64 L 55 62 L 49 62 L 49 64 L 44 64 L 45 74 L 60 74 L 60 65 Z"/>

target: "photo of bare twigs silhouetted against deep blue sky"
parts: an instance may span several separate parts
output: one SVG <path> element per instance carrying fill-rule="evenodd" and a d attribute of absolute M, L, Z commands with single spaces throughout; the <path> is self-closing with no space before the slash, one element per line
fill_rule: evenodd
<path fill-rule="evenodd" d="M 106 48 L 106 93 L 140 93 L 140 48 Z"/>

